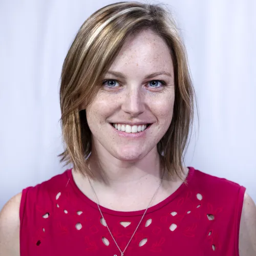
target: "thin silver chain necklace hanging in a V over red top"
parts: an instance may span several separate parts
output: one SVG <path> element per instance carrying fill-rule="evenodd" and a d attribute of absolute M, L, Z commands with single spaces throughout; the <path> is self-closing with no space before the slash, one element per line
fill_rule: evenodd
<path fill-rule="evenodd" d="M 164 176 L 164 172 L 163 172 L 163 176 Z M 157 187 L 157 190 L 156 190 L 155 194 L 153 195 L 152 199 L 150 200 L 150 203 L 147 205 L 147 207 L 146 207 L 146 209 L 145 209 L 145 211 L 144 211 L 144 214 L 142 215 L 142 217 L 141 217 L 141 219 L 140 219 L 140 221 L 139 221 L 139 224 L 137 225 L 136 229 L 134 230 L 134 232 L 133 232 L 133 234 L 132 234 L 132 237 L 130 238 L 129 242 L 127 243 L 127 245 L 125 246 L 125 248 L 124 248 L 123 251 L 122 251 L 122 250 L 120 249 L 120 247 L 118 246 L 118 244 L 117 244 L 117 242 L 116 242 L 116 240 L 115 240 L 115 238 L 114 238 L 112 232 L 110 231 L 110 228 L 109 228 L 108 224 L 106 223 L 105 218 L 103 217 L 102 211 L 101 211 L 101 209 L 100 209 L 100 207 L 99 207 L 98 197 L 97 197 L 97 195 L 96 195 L 96 192 L 95 192 L 95 190 L 94 190 L 94 188 L 93 188 L 93 186 L 92 186 L 92 183 L 91 183 L 90 179 L 88 178 L 89 183 L 90 183 L 90 186 L 91 186 L 91 188 L 92 188 L 92 190 L 93 190 L 93 193 L 94 193 L 94 196 L 95 196 L 95 200 L 96 200 L 96 203 L 97 203 L 97 206 L 98 206 L 100 215 L 101 215 L 101 217 L 102 217 L 102 220 L 104 220 L 105 225 L 106 225 L 106 227 L 108 228 L 108 230 L 109 230 L 109 232 L 110 232 L 110 234 L 111 234 L 111 237 L 112 237 L 113 241 L 115 242 L 117 248 L 119 249 L 119 251 L 120 251 L 120 253 L 121 253 L 121 256 L 124 256 L 125 250 L 127 249 L 127 247 L 129 246 L 129 244 L 131 243 L 131 241 L 132 241 L 132 239 L 133 239 L 135 233 L 137 232 L 137 230 L 138 230 L 138 228 L 139 228 L 139 226 L 140 226 L 140 223 L 142 222 L 142 220 L 143 220 L 143 218 L 144 218 L 144 216 L 145 216 L 145 214 L 146 214 L 146 212 L 147 212 L 147 209 L 150 207 L 150 205 L 151 205 L 151 203 L 152 203 L 154 197 L 156 196 L 157 191 L 159 190 L 159 187 L 161 186 L 161 183 L 162 183 L 162 180 L 163 180 L 163 176 L 162 176 L 162 178 L 161 178 L 161 180 L 160 180 L 160 183 L 159 183 L 159 185 L 158 185 L 158 187 Z M 115 254 L 114 256 L 117 256 L 117 255 Z"/>

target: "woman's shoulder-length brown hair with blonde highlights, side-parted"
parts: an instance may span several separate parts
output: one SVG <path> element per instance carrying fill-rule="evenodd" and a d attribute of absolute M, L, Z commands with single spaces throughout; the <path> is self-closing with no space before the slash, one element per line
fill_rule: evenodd
<path fill-rule="evenodd" d="M 80 27 L 63 62 L 60 83 L 61 129 L 65 150 L 60 162 L 95 177 L 88 167 L 92 136 L 86 108 L 101 86 L 101 79 L 125 39 L 151 29 L 169 48 L 173 59 L 175 102 L 170 126 L 157 144 L 161 162 L 170 176 L 184 174 L 183 161 L 194 119 L 195 92 L 189 75 L 187 53 L 177 24 L 161 4 L 119 2 L 94 12 Z M 80 109 L 83 104 L 84 110 Z"/>

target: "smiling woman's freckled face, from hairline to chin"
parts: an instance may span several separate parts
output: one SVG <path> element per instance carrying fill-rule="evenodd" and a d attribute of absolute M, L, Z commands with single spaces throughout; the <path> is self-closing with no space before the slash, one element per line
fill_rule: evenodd
<path fill-rule="evenodd" d="M 128 38 L 87 108 L 96 151 L 135 162 L 156 150 L 172 121 L 174 90 L 164 40 L 151 30 Z"/>

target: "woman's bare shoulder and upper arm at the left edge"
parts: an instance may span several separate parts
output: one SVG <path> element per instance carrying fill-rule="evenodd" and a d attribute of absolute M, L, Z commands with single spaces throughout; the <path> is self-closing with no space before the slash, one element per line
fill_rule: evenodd
<path fill-rule="evenodd" d="M 22 193 L 12 197 L 0 212 L 0 255 L 19 256 L 19 206 Z"/>

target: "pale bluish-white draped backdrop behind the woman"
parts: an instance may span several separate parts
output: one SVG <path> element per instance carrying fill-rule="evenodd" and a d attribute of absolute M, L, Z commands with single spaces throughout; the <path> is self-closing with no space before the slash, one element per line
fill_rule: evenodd
<path fill-rule="evenodd" d="M 57 158 L 62 62 L 84 20 L 114 2 L 0 1 L 0 208 L 65 170 Z M 199 103 L 186 165 L 244 185 L 256 201 L 256 1 L 161 2 L 182 30 Z"/>

